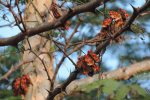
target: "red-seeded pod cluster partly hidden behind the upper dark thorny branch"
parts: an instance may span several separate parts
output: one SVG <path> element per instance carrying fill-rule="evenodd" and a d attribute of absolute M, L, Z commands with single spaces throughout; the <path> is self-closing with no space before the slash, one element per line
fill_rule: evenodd
<path fill-rule="evenodd" d="M 59 6 L 57 4 L 55 4 L 55 3 L 52 5 L 52 7 L 50 8 L 50 10 L 52 11 L 52 13 L 53 13 L 53 15 L 54 15 L 54 17 L 56 19 L 60 18 L 63 14 L 65 14 L 67 12 L 66 9 L 60 9 Z M 70 22 L 67 21 L 66 27 L 65 27 L 67 30 L 70 29 L 69 28 L 69 24 L 70 24 Z"/>

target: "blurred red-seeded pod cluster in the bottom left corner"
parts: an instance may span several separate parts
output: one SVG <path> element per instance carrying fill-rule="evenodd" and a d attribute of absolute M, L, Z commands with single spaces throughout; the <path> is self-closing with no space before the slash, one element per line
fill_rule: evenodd
<path fill-rule="evenodd" d="M 15 79 L 12 83 L 14 96 L 25 95 L 28 91 L 29 84 L 31 84 L 31 81 L 27 74 L 24 74 L 22 77 Z"/>

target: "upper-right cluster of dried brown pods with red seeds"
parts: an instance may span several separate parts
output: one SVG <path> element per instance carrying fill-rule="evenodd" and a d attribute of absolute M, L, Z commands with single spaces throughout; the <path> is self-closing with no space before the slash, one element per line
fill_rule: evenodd
<path fill-rule="evenodd" d="M 117 12 L 110 11 L 109 12 L 110 17 L 105 19 L 102 22 L 102 28 L 100 30 L 100 33 L 98 33 L 98 36 L 101 38 L 107 38 L 110 35 L 114 34 L 118 29 L 120 29 L 126 22 L 129 17 L 129 14 L 126 13 L 126 11 L 119 9 Z M 122 36 L 119 36 L 116 38 L 116 42 L 119 42 L 119 39 L 122 39 Z"/>

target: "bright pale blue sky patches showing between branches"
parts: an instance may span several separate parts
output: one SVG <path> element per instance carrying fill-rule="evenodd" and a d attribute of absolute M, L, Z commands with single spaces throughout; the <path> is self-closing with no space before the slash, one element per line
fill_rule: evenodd
<path fill-rule="evenodd" d="M 135 7 L 140 7 L 144 4 L 144 1 L 145 0 L 135 0 L 135 3 L 133 5 Z M 130 1 L 129 1 L 129 3 L 130 3 Z M 123 9 L 125 8 L 125 9 L 129 9 L 129 10 L 133 11 L 130 4 L 127 4 L 127 6 L 123 6 L 121 4 L 121 1 L 119 1 L 118 5 Z M 14 10 L 16 10 L 16 8 Z M 13 18 L 12 18 L 11 14 L 8 17 L 9 17 L 10 21 L 13 21 Z M 0 25 L 7 24 L 6 21 L 0 20 L 0 22 L 1 22 Z M 99 31 L 99 30 L 97 30 L 97 31 Z M 20 30 L 18 29 L 17 26 L 0 28 L 0 37 L 3 37 L 3 38 L 11 37 L 11 36 L 14 36 L 14 35 L 18 34 L 19 32 L 20 32 Z M 72 32 L 72 30 L 69 30 L 69 32 Z M 131 40 L 131 41 L 134 42 L 135 40 Z M 140 41 L 140 39 L 137 39 L 136 41 Z M 145 41 L 149 42 L 149 39 L 146 39 Z M 117 45 L 117 47 L 121 49 L 121 46 L 119 44 Z M 88 48 L 89 48 L 89 46 L 85 46 L 83 51 L 87 52 Z M 62 55 L 62 54 L 57 53 L 56 55 L 59 55 L 59 56 L 56 56 L 56 57 L 57 57 L 57 60 L 60 60 L 61 59 L 60 55 Z M 107 66 L 110 68 L 110 70 L 115 70 L 118 67 L 119 62 L 117 61 L 117 58 L 115 56 L 109 56 L 109 55 L 112 55 L 111 52 L 106 51 L 106 53 L 103 56 L 103 61 L 107 62 Z M 74 62 L 77 62 L 77 54 L 76 53 L 73 53 L 69 57 L 72 58 Z M 65 65 L 67 65 L 67 67 Z M 68 59 L 66 59 L 64 61 L 63 65 L 61 66 L 61 68 L 59 69 L 59 72 L 58 72 L 59 78 L 66 79 L 70 74 L 70 70 L 73 71 L 74 66 Z M 58 75 L 57 75 L 57 77 L 58 77 Z"/>

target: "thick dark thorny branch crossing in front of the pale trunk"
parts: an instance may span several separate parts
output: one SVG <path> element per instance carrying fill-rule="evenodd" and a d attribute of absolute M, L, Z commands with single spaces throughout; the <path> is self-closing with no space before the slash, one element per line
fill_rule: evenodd
<path fill-rule="evenodd" d="M 53 22 L 44 23 L 44 24 L 37 26 L 35 28 L 32 28 L 32 29 L 28 29 L 26 34 L 28 34 L 28 36 L 31 37 L 33 35 L 61 27 L 61 26 L 63 26 L 64 23 L 66 23 L 73 16 L 80 14 L 80 13 L 83 13 L 83 12 L 94 12 L 96 7 L 104 4 L 105 2 L 107 2 L 109 0 L 103 0 L 103 1 L 104 2 L 101 2 L 101 0 L 93 0 L 89 3 L 71 8 L 72 11 L 68 11 L 67 14 L 63 15 L 59 19 L 57 19 Z M 24 39 L 25 39 L 25 34 L 23 34 L 21 32 L 15 36 L 12 36 L 9 38 L 1 38 L 0 39 L 0 46 L 15 45 Z"/>

